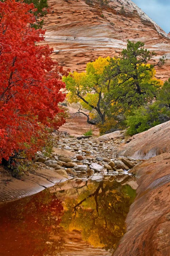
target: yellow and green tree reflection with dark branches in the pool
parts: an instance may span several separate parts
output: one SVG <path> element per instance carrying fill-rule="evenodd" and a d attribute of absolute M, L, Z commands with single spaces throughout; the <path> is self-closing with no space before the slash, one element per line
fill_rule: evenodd
<path fill-rule="evenodd" d="M 81 231 L 83 240 L 94 247 L 114 251 L 125 232 L 124 221 L 135 192 L 115 181 L 89 182 L 76 191 L 74 199 L 64 202 L 62 227 Z"/>

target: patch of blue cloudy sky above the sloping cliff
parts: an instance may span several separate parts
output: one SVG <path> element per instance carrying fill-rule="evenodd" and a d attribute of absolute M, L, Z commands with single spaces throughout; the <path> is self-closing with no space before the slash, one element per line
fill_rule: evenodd
<path fill-rule="evenodd" d="M 170 0 L 132 0 L 165 32 L 170 32 Z"/>

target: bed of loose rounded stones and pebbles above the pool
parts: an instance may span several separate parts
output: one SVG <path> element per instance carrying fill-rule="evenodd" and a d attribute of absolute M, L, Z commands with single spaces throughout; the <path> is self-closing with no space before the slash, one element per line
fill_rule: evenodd
<path fill-rule="evenodd" d="M 116 140 L 118 144 L 121 142 L 123 142 L 122 139 Z M 63 137 L 60 138 L 58 148 L 66 149 L 77 155 L 67 157 L 53 153 L 51 158 L 47 158 L 43 153 L 37 152 L 37 157 L 33 159 L 33 162 L 41 168 L 60 172 L 65 177 L 69 175 L 84 180 L 90 177 L 90 179 L 99 181 L 103 175 L 109 174 L 110 180 L 114 179 L 113 175 L 124 173 L 124 170 L 129 170 L 139 163 L 138 160 L 129 157 L 113 158 L 112 151 L 115 147 L 117 145 L 114 140 L 99 143 L 93 137 L 83 140 Z"/>

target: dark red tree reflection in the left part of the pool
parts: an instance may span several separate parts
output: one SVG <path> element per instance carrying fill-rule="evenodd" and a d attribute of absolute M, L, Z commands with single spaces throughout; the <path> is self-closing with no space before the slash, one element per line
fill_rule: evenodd
<path fill-rule="evenodd" d="M 62 215 L 62 202 L 49 190 L 5 205 L 1 208 L 0 255 L 60 253 L 65 244 L 58 236 Z"/>

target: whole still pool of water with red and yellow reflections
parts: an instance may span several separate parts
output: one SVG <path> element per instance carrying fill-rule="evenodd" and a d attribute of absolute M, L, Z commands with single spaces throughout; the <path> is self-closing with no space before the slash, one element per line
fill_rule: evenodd
<path fill-rule="evenodd" d="M 110 256 L 134 198 L 135 190 L 111 176 L 0 205 L 0 256 Z"/>

